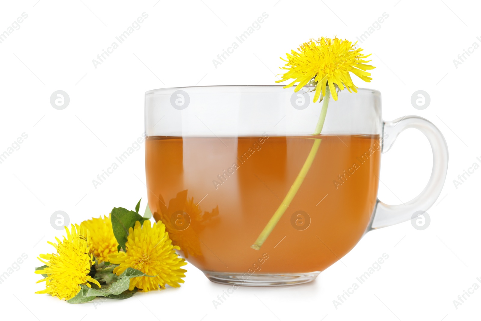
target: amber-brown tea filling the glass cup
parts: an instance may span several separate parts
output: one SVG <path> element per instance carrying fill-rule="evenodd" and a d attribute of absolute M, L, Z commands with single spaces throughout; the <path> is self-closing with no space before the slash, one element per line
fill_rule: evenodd
<path fill-rule="evenodd" d="M 379 136 L 316 137 L 322 141 L 314 162 L 260 251 L 250 246 L 291 188 L 313 136 L 148 137 L 153 216 L 204 271 L 325 270 L 354 247 L 369 224 L 381 151 Z M 264 253 L 268 259 L 259 267 Z"/>

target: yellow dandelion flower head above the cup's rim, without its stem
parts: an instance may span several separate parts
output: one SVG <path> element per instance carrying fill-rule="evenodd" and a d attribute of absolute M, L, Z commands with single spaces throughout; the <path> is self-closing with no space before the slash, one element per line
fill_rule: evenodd
<path fill-rule="evenodd" d="M 341 40 L 337 37 L 319 38 L 317 40 L 309 40 L 300 45 L 297 51 L 292 50 L 291 54 L 286 53 L 287 59 L 284 67 L 281 69 L 288 70 L 281 80 L 276 82 L 294 79 L 284 88 L 292 87 L 298 83 L 294 91 L 299 91 L 307 84 L 314 81 L 316 93 L 314 94 L 314 102 L 322 96 L 326 96 L 326 86 L 329 84 L 329 90 L 334 100 L 337 100 L 336 87 L 349 92 L 357 92 L 357 87 L 351 79 L 350 72 L 366 82 L 372 80 L 371 74 L 366 70 L 374 69 L 369 64 L 370 60 L 364 60 L 370 54 L 364 55 L 361 48 L 355 49 L 353 44 L 348 40 Z M 319 86 L 320 85 L 320 86 Z M 322 99 L 321 99 L 322 100 Z"/>

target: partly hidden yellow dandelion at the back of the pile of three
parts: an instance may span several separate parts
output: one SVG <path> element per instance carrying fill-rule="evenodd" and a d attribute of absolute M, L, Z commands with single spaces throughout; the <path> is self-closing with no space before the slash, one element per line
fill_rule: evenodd
<path fill-rule="evenodd" d="M 99 262 L 108 261 L 109 254 L 117 252 L 118 243 L 109 217 L 104 215 L 103 218 L 85 220 L 80 227 L 89 230 L 89 246 Z"/>

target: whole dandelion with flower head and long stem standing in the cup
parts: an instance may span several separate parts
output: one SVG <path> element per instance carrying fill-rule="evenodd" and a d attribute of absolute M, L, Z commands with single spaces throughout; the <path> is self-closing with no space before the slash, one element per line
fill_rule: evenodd
<path fill-rule="evenodd" d="M 354 45 L 351 41 L 345 39 L 322 37 L 317 40 L 311 39 L 309 42 L 304 42 L 300 45 L 300 48 L 297 49 L 299 52 L 291 50 L 291 54 L 286 53 L 288 60 L 280 58 L 287 62 L 287 64 L 285 64 L 284 67 L 280 67 L 280 69 L 285 69 L 287 72 L 282 75 L 282 79 L 276 82 L 294 79 L 290 84 L 284 86 L 284 88 L 289 88 L 298 83 L 294 92 L 299 91 L 306 85 L 314 85 L 316 93 L 314 94 L 313 102 L 317 102 L 321 93 L 322 96 L 320 100 L 323 100 L 322 97 L 325 97 L 325 99 L 322 103 L 321 113 L 317 117 L 319 120 L 316 128 L 312 133 L 314 142 L 311 151 L 299 174 L 292 183 L 291 188 L 284 197 L 284 200 L 281 201 L 278 209 L 267 222 L 266 227 L 261 231 L 254 244 L 251 245 L 251 248 L 254 250 L 259 250 L 274 230 L 279 219 L 284 215 L 291 201 L 296 196 L 297 191 L 299 191 L 305 176 L 316 158 L 317 150 L 321 143 L 321 137 L 319 137 L 319 135 L 326 120 L 329 96 L 332 96 L 332 99 L 336 101 L 338 99 L 337 89 L 344 90 L 344 88 L 347 88 L 349 92 L 357 92 L 357 87 L 351 79 L 350 72 L 364 81 L 370 82 L 372 80 L 372 78 L 369 77 L 371 74 L 366 70 L 376 67 L 365 64 L 370 62 L 370 60 L 364 60 L 364 58 L 367 58 L 370 54 L 362 54 L 362 49 L 355 49 Z M 327 86 L 329 86 L 329 91 L 326 91 Z"/>

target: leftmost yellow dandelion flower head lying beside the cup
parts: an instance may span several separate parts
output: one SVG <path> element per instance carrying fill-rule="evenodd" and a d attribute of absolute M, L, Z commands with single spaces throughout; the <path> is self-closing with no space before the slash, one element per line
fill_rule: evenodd
<path fill-rule="evenodd" d="M 90 287 L 89 282 L 99 287 L 100 284 L 89 275 L 92 265 L 95 264 L 87 243 L 89 231 L 77 224 L 75 226 L 72 224 L 72 231 L 67 227 L 65 231 L 67 231 L 67 237 L 64 236 L 63 241 L 55 238 L 57 244 L 48 242 L 55 247 L 57 253 L 40 254 L 38 259 L 47 267 L 35 273 L 47 274 L 46 278 L 38 281 L 45 281 L 45 290 L 36 293 L 47 293 L 68 300 L 77 295 L 81 289 L 80 284 L 88 287 Z"/>

